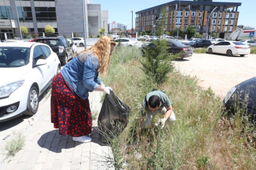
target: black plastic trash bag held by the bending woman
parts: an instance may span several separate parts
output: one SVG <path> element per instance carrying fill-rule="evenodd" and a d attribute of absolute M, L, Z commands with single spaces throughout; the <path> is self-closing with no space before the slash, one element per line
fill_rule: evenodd
<path fill-rule="evenodd" d="M 117 137 L 127 126 L 129 114 L 129 106 L 120 101 L 113 91 L 106 94 L 98 117 L 101 142 Z"/>

